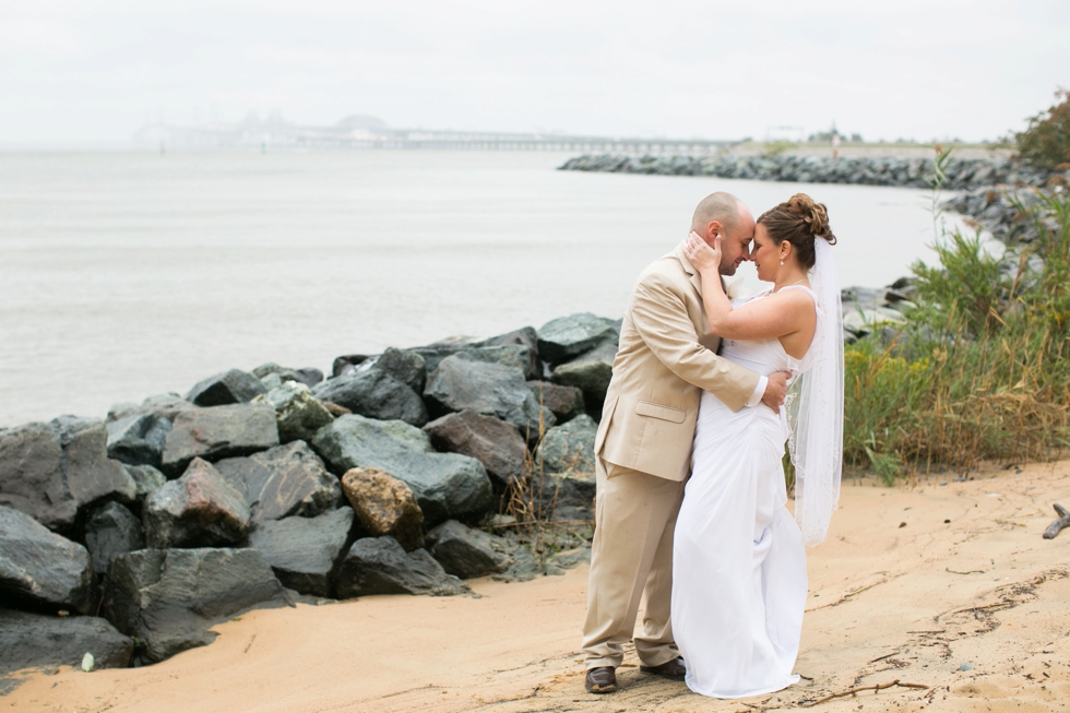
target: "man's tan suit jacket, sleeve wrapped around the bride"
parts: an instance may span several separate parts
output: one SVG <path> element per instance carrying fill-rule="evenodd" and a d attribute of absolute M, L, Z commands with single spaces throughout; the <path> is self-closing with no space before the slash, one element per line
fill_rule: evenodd
<path fill-rule="evenodd" d="M 758 373 L 717 356 L 701 287 L 682 245 L 639 276 L 595 438 L 604 461 L 683 480 L 702 391 L 739 411 L 758 388 Z"/>

